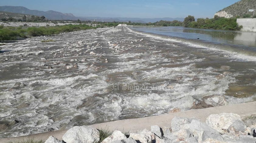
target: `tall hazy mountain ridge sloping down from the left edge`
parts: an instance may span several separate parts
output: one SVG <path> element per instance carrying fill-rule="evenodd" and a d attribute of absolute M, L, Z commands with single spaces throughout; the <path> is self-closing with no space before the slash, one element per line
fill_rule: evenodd
<path fill-rule="evenodd" d="M 0 6 L 0 11 L 20 13 L 26 15 L 37 15 L 37 16 L 45 16 L 50 20 L 61 20 L 61 19 L 69 19 L 69 20 L 77 20 L 71 13 L 61 13 L 58 11 L 38 11 L 38 10 L 30 10 L 28 8 L 22 6 Z"/>

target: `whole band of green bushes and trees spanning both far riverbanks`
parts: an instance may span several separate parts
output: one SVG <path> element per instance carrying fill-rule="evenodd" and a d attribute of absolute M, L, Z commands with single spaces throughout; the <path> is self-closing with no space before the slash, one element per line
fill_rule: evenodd
<path fill-rule="evenodd" d="M 43 19 L 42 17 L 40 17 Z M 221 30 L 240 30 L 242 26 L 239 26 L 236 22 L 237 18 L 223 18 L 215 16 L 214 18 L 198 18 L 195 21 L 194 16 L 189 15 L 181 21 L 157 21 L 154 23 L 135 23 L 135 22 L 91 22 L 91 25 L 78 24 L 78 25 L 62 25 L 62 26 L 46 26 L 46 27 L 3 27 L 0 26 L 0 41 L 16 40 L 20 38 L 26 38 L 31 36 L 49 36 L 56 35 L 63 32 L 71 32 L 78 30 L 86 30 L 99 27 L 111 27 L 118 24 L 127 24 L 133 26 L 184 26 L 189 28 L 205 28 L 205 29 L 221 29 Z M 81 21 L 84 23 L 85 21 Z M 86 21 L 88 22 L 88 21 Z M 92 24 L 96 24 L 96 27 L 92 27 Z"/>

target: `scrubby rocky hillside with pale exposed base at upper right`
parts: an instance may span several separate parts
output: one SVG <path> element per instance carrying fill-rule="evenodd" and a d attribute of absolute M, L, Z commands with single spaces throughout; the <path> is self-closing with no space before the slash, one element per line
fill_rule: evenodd
<path fill-rule="evenodd" d="M 256 10 L 256 0 L 241 0 L 218 11 L 217 13 L 215 13 L 215 15 L 226 18 L 231 18 L 235 16 L 242 17 L 243 15 L 247 14 L 248 9 Z M 253 12 L 248 12 L 248 14 L 253 15 Z"/>

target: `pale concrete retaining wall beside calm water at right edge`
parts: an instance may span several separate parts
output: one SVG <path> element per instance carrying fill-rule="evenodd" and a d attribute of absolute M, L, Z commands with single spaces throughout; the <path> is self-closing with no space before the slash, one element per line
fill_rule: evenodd
<path fill-rule="evenodd" d="M 238 25 L 242 25 L 242 31 L 256 32 L 256 18 L 237 18 Z"/>

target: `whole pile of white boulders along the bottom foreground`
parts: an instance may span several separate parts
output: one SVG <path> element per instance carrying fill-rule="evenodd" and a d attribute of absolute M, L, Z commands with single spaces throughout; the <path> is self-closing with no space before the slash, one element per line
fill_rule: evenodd
<path fill-rule="evenodd" d="M 174 117 L 171 128 L 151 126 L 151 131 L 124 135 L 114 131 L 101 143 L 255 143 L 256 125 L 246 127 L 240 116 L 233 113 L 210 115 L 206 122 L 195 118 Z M 63 141 L 50 136 L 45 143 L 97 143 L 99 131 L 90 126 L 75 126 L 63 136 Z"/>

